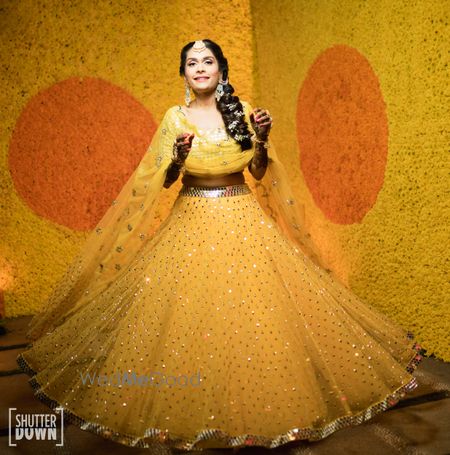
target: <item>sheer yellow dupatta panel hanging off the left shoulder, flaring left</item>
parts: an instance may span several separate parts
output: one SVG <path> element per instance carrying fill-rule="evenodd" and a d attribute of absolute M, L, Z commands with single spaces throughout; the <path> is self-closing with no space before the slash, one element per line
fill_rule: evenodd
<path fill-rule="evenodd" d="M 43 311 L 31 320 L 27 333 L 30 339 L 63 323 L 104 291 L 136 257 L 154 223 L 175 137 L 173 118 L 167 111 L 138 167 L 88 235 Z"/>

